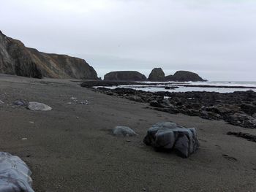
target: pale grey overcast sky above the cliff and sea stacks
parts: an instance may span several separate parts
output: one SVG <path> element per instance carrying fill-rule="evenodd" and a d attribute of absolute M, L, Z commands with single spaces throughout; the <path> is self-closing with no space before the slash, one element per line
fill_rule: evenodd
<path fill-rule="evenodd" d="M 256 81 L 256 1 L 0 0 L 0 30 L 27 47 L 84 58 L 99 77 L 154 67 Z"/>

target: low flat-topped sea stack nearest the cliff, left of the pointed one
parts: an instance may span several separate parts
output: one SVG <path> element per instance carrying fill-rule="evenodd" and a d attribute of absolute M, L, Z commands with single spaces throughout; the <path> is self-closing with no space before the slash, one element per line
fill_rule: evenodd
<path fill-rule="evenodd" d="M 105 74 L 104 80 L 108 81 L 146 81 L 146 76 L 139 72 L 110 72 Z"/>

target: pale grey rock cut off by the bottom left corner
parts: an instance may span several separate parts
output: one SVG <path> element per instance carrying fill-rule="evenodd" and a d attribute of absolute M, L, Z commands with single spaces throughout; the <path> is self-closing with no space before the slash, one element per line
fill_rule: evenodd
<path fill-rule="evenodd" d="M 0 152 L 0 191 L 34 192 L 31 171 L 18 156 Z"/>

